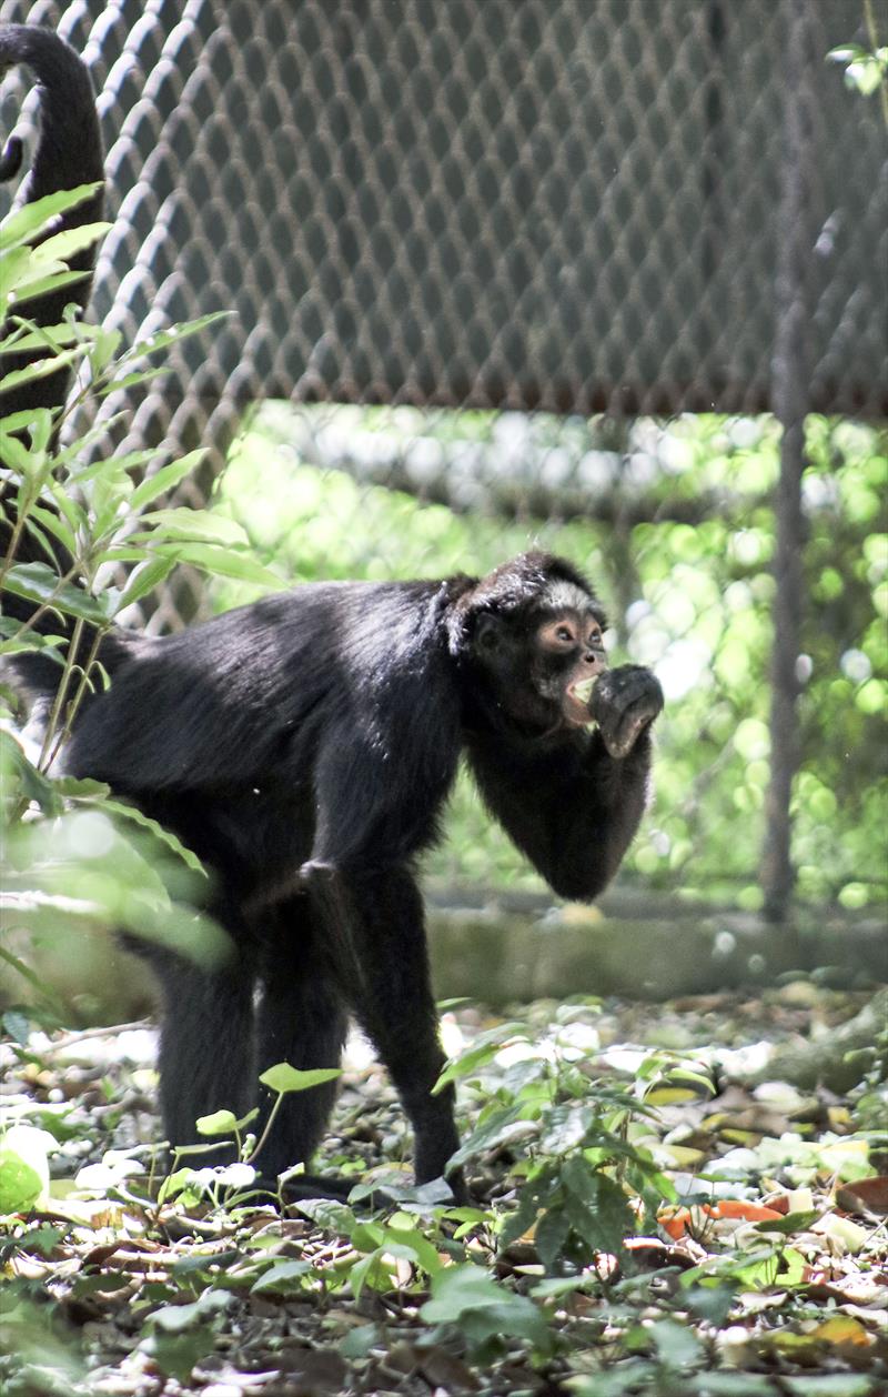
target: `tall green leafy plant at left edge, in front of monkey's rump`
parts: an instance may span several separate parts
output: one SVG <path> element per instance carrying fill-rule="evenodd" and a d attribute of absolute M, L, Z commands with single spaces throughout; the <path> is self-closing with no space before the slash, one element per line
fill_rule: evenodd
<path fill-rule="evenodd" d="M 140 381 L 152 369 L 140 365 L 179 338 L 204 330 L 212 319 L 152 335 L 130 349 L 121 337 L 68 316 L 63 324 L 36 327 L 20 307 L 59 289 L 70 277 L 64 258 L 94 242 L 106 225 L 34 239 L 47 222 L 91 193 L 52 194 L 11 214 L 0 226 L 0 321 L 7 332 L 3 355 L 28 348 L 54 351 L 36 365 L 7 373 L 10 388 L 61 366 L 80 366 L 84 387 L 66 411 L 45 408 L 0 420 L 0 472 L 11 520 L 10 545 L 0 560 L 0 588 L 34 604 L 29 624 L 0 616 L 0 661 L 39 652 L 59 666 L 56 700 L 39 746 L 25 746 L 0 731 L 0 838 L 4 879 L 0 909 L 6 942 L 0 956 L 32 993 L 40 986 L 13 937 L 82 928 L 126 929 L 172 942 L 202 960 L 218 960 L 228 939 L 194 911 L 208 882 L 175 835 L 126 802 L 112 799 L 95 781 L 57 774 L 57 757 L 77 711 L 108 676 L 99 662 L 102 636 L 134 601 L 148 595 L 179 563 L 216 570 L 261 585 L 278 585 L 254 562 L 237 525 L 201 514 L 152 506 L 201 460 L 191 453 L 149 474 L 148 453 L 88 460 L 95 444 L 88 432 L 64 448 L 53 446 L 56 429 L 87 394 L 103 397 L 123 383 Z M 8 522 L 8 521 L 7 521 Z M 28 543 L 27 562 L 22 545 Z M 59 557 L 64 562 L 60 563 Z M 120 581 L 120 564 L 128 573 Z M 64 637 L 73 637 L 71 651 Z M 87 640 L 88 637 L 88 640 Z M 84 655 L 74 662 L 73 652 Z M 15 704 L 0 690 L 0 717 Z"/>

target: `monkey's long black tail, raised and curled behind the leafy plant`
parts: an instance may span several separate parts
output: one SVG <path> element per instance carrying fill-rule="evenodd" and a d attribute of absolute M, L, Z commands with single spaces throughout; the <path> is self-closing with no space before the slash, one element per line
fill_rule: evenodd
<path fill-rule="evenodd" d="M 102 182 L 105 177 L 102 133 L 92 80 L 82 59 L 52 29 L 28 24 L 3 24 L 0 74 L 18 63 L 31 68 L 40 92 L 40 134 L 28 176 L 27 203 L 80 184 Z M 0 154 L 0 180 L 13 179 L 21 169 L 21 162 L 22 144 L 18 137 L 11 136 Z M 63 214 L 46 236 L 96 222 L 102 218 L 103 205 L 103 187 L 99 187 L 77 208 Z M 63 286 L 60 291 L 24 303 L 22 314 L 38 326 L 56 326 L 61 323 L 67 305 L 74 303 L 84 310 L 92 291 L 94 265 L 94 247 L 75 253 L 68 260 L 68 267 L 87 275 L 71 286 Z M 0 334 L 8 332 L 10 327 L 3 326 Z M 45 353 L 43 349 L 29 349 L 4 355 L 0 359 L 0 377 L 28 367 Z M 60 369 L 7 388 L 0 393 L 0 416 L 38 408 L 60 408 L 67 397 L 68 384 L 70 372 Z M 64 576 L 71 569 L 71 557 L 61 542 L 52 531 L 42 531 L 39 538 L 29 528 L 18 532 L 15 504 L 15 483 L 0 479 L 0 556 L 8 557 L 11 541 L 17 535 L 15 563 L 47 562 L 52 557 L 59 574 Z M 3 594 L 3 613 L 21 623 L 31 623 L 36 617 L 35 629 L 52 634 L 70 634 L 73 629 L 73 624 L 60 619 L 59 613 L 42 610 L 38 601 L 10 591 Z M 82 636 L 85 652 L 91 644 L 92 637 Z M 15 662 L 15 673 L 27 689 L 47 693 L 54 689 L 60 671 L 53 659 L 28 654 Z"/>

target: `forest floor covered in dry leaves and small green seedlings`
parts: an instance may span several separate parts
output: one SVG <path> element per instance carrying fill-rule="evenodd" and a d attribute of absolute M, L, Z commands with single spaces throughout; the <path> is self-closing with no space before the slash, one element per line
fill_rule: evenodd
<path fill-rule="evenodd" d="M 888 1394 L 884 1062 L 850 1097 L 761 1081 L 867 997 L 447 1007 L 469 1208 L 409 1186 L 359 1039 L 323 1166 L 392 1204 L 285 1215 L 243 1164 L 158 1200 L 149 1025 L 7 1041 L 0 1393 Z"/>

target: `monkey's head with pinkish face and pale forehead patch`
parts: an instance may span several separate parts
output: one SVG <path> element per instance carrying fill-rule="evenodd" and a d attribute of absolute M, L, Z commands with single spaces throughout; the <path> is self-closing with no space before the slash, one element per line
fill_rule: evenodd
<path fill-rule="evenodd" d="M 607 622 L 570 563 L 525 553 L 478 583 L 457 612 L 457 654 L 489 712 L 539 735 L 592 721 L 592 687 L 607 668 Z"/>

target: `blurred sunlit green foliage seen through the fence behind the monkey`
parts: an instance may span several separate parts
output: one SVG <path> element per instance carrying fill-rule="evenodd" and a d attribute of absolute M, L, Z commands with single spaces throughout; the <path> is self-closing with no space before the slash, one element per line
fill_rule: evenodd
<path fill-rule="evenodd" d="M 300 414 L 323 443 L 338 411 Z M 348 411 L 355 423 L 355 409 Z M 402 423 L 399 412 L 357 415 L 367 434 L 378 436 L 380 458 L 387 441 L 395 453 L 412 432 L 440 441 L 458 462 L 459 443 L 475 444 L 496 430 L 491 414 L 405 409 Z M 627 471 L 631 475 L 638 462 L 645 472 L 641 499 L 649 521 L 623 538 L 613 525 L 593 521 L 508 522 L 484 510 L 483 493 L 471 513 L 455 514 L 357 483 L 300 460 L 288 444 L 295 423 L 286 405 L 262 409 L 221 483 L 218 513 L 244 528 L 257 555 L 293 581 L 483 571 L 536 545 L 572 557 L 613 612 L 614 659 L 653 665 L 666 690 L 655 803 L 626 862 L 627 875 L 758 905 L 769 775 L 776 425 L 712 416 L 637 423 Z M 605 430 L 539 418 L 533 441 L 574 451 L 579 462 Z M 888 893 L 881 732 L 888 696 L 888 433 L 811 418 L 807 444 L 804 562 L 811 605 L 800 658 L 794 859 L 803 898 L 864 907 Z M 676 502 L 709 502 L 709 513 L 694 525 L 676 522 L 669 518 Z M 214 585 L 221 609 L 253 595 L 232 583 Z M 448 845 L 427 861 L 433 876 L 539 887 L 468 780 L 457 787 L 448 835 Z"/>

